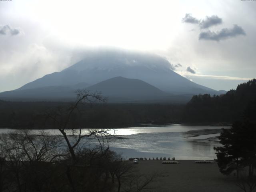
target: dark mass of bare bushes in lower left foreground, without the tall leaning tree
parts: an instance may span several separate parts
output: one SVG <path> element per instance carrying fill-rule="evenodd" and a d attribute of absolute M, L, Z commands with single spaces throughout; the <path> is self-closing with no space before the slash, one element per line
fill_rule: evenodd
<path fill-rule="evenodd" d="M 95 139 L 100 132 L 93 134 Z M 66 146 L 63 138 L 46 132 L 2 136 L 0 192 L 138 192 L 158 176 L 139 174 L 132 162 L 100 145 L 79 144 L 75 160 Z"/>

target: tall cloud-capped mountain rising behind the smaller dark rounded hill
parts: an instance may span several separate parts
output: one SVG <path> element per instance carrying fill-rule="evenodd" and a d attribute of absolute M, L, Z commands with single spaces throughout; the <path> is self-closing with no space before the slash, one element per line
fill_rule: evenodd
<path fill-rule="evenodd" d="M 172 94 L 219 94 L 216 90 L 191 82 L 170 68 L 171 64 L 165 58 L 154 54 L 122 50 L 92 51 L 84 54 L 83 60 L 69 68 L 25 84 L 19 90 L 70 86 L 80 82 L 93 85 L 122 76 L 142 80 Z"/>

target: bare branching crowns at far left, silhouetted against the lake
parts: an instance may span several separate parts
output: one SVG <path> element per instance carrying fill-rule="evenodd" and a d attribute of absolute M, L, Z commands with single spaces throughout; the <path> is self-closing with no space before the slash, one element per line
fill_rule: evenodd
<path fill-rule="evenodd" d="M 22 156 L 20 160 L 30 162 L 52 162 L 63 156 L 61 138 L 50 136 L 44 130 L 33 134 L 31 130 L 18 130 L 2 136 L 4 154 L 8 160 L 15 159 L 14 154 Z"/>

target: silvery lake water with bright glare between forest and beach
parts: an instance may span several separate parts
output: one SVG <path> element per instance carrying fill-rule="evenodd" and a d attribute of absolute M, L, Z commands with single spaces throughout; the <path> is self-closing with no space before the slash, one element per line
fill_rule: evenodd
<path fill-rule="evenodd" d="M 110 132 L 122 139 L 112 141 L 110 149 L 122 153 L 124 158 L 175 157 L 180 160 L 212 160 L 216 158 L 213 147 L 220 146 L 217 137 L 221 128 L 230 127 L 170 124 L 118 128 Z M 14 130 L 0 129 L 0 134 L 12 131 Z M 46 131 L 50 135 L 59 134 L 58 130 Z M 88 130 L 83 130 L 86 131 Z M 33 130 L 33 133 L 38 133 L 38 130 Z"/>

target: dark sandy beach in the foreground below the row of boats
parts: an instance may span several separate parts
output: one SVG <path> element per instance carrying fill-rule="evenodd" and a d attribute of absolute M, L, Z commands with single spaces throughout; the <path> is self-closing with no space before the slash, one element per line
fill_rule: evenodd
<path fill-rule="evenodd" d="M 194 160 L 178 160 L 180 164 L 162 164 L 161 160 L 139 161 L 137 166 L 142 174 L 161 172 L 148 192 L 240 192 L 234 176 L 224 176 L 217 163 L 195 164 Z"/>

